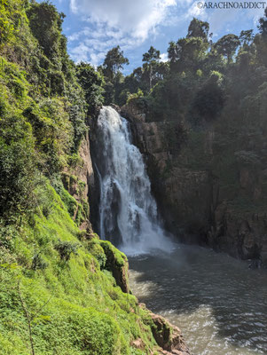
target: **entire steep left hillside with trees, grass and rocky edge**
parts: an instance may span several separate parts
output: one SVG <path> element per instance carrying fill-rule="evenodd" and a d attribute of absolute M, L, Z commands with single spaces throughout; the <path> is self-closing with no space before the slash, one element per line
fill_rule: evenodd
<path fill-rule="evenodd" d="M 68 58 L 49 2 L 4 0 L 0 12 L 1 355 L 188 353 L 130 294 L 126 256 L 91 229 L 88 124 L 103 78 Z"/>

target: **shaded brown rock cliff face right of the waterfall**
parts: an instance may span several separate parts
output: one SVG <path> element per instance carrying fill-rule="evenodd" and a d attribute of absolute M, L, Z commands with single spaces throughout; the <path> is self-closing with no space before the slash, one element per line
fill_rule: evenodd
<path fill-rule="evenodd" d="M 175 122 L 153 121 L 134 101 L 122 107 L 122 115 L 145 154 L 153 194 L 169 231 L 182 241 L 207 244 L 266 267 L 263 137 L 242 137 L 215 122 L 189 128 L 181 143 Z"/>

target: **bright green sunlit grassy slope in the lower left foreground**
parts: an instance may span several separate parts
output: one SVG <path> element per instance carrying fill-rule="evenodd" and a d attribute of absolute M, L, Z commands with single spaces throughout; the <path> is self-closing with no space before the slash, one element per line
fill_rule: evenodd
<path fill-rule="evenodd" d="M 45 217 L 40 206 L 29 224 L 2 235 L 8 248 L 0 251 L 0 353 L 30 353 L 22 303 L 31 317 L 35 354 L 148 352 L 155 343 L 147 312 L 137 307 L 135 296 L 122 293 L 105 270 L 105 252 L 97 237 L 81 241 L 81 231 L 59 195 L 49 184 L 42 189 L 49 215 Z M 76 255 L 62 260 L 56 249 L 59 241 L 76 244 Z M 121 262 L 119 251 L 117 255 Z M 33 270 L 36 256 L 39 262 Z M 145 342 L 144 352 L 130 347 L 138 337 Z"/>

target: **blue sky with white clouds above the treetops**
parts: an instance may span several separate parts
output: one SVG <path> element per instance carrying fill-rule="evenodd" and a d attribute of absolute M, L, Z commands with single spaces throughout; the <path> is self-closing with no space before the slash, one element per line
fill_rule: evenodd
<path fill-rule="evenodd" d="M 267 0 L 266 0 L 267 1 Z M 167 59 L 169 41 L 185 36 L 193 17 L 207 20 L 216 41 L 227 33 L 239 35 L 242 29 L 255 28 L 261 9 L 200 9 L 191 0 L 52 0 L 64 12 L 63 31 L 68 52 L 80 60 L 98 66 L 106 51 L 120 45 L 130 60 L 124 73 L 142 65 L 142 54 L 153 45 Z M 219 0 L 217 0 L 217 3 Z M 244 3 L 244 0 L 240 0 Z M 213 3 L 215 3 L 213 1 Z"/>

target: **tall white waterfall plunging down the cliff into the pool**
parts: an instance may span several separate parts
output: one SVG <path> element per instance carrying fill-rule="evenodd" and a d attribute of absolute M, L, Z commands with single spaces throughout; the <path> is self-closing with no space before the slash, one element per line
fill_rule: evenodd
<path fill-rule="evenodd" d="M 99 232 L 126 254 L 171 249 L 161 228 L 142 155 L 130 141 L 128 122 L 104 106 L 98 116 Z"/>

